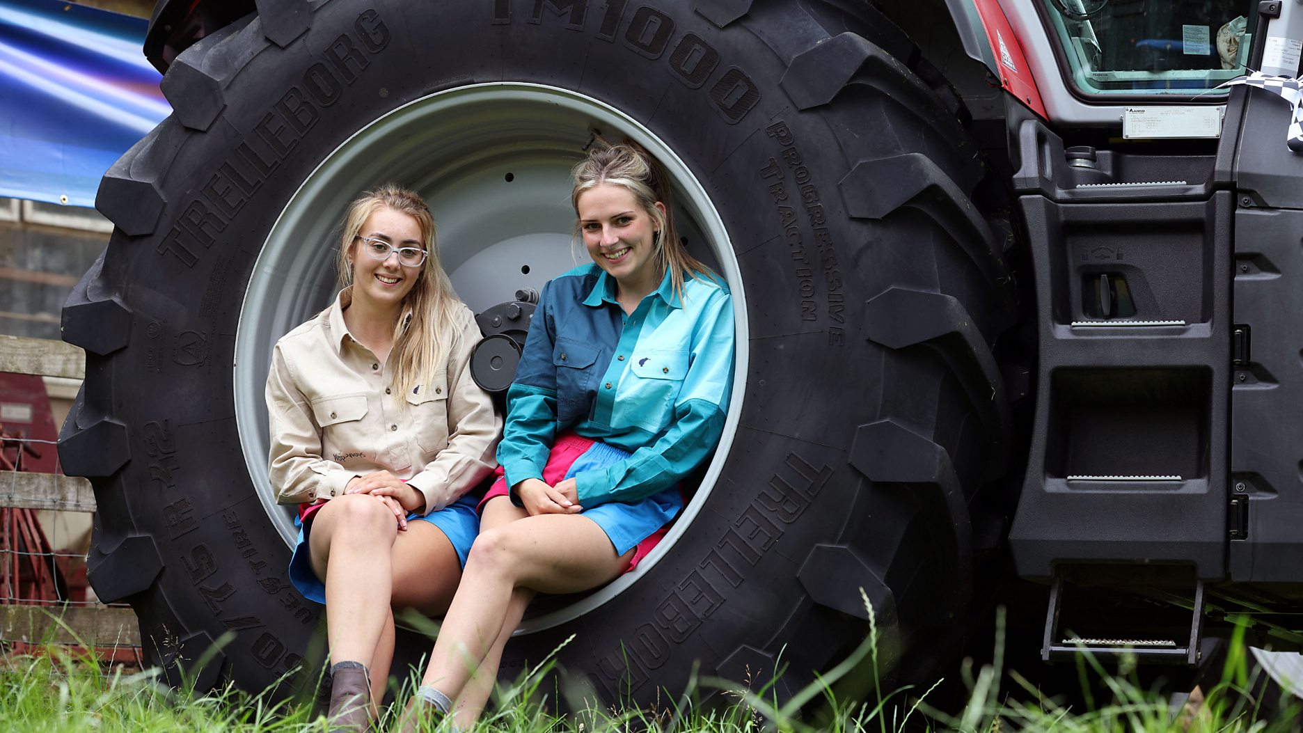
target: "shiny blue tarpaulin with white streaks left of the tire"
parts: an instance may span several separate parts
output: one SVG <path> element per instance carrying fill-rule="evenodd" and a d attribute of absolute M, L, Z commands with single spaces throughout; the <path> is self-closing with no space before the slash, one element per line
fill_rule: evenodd
<path fill-rule="evenodd" d="M 94 206 L 104 171 L 172 110 L 146 21 L 0 0 L 0 196 Z"/>

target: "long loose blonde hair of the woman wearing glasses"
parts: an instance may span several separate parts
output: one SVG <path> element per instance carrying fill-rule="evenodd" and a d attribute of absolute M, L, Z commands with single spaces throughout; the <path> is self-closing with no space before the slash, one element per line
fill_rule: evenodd
<path fill-rule="evenodd" d="M 380 207 L 392 209 L 416 219 L 421 228 L 421 247 L 430 253 L 417 275 L 416 284 L 403 299 L 404 309 L 412 309 L 410 318 L 399 318 L 394 323 L 394 347 L 390 359 L 394 364 L 394 385 L 399 394 L 408 394 L 417 385 L 427 383 L 431 374 L 439 370 L 455 348 L 460 329 L 439 327 L 443 323 L 456 323 L 453 320 L 464 308 L 452 283 L 439 263 L 439 248 L 434 233 L 434 217 L 421 194 L 397 184 L 384 184 L 362 193 L 348 206 L 340 237 L 339 290 L 353 284 L 353 266 L 349 252 L 362 232 L 362 224 Z M 361 254 L 358 254 L 361 256 Z M 446 342 L 446 334 L 453 334 L 452 342 Z"/>

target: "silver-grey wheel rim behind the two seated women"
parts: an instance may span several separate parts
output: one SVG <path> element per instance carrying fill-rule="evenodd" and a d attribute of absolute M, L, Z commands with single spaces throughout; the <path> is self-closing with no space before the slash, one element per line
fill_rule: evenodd
<path fill-rule="evenodd" d="M 582 616 L 637 583 L 674 546 L 714 489 L 732 445 L 745 394 L 745 293 L 728 233 L 705 188 L 649 129 L 619 110 L 573 91 L 529 83 L 483 83 L 410 102 L 358 130 L 317 167 L 280 214 L 254 265 L 235 343 L 236 423 L 245 464 L 267 516 L 288 545 L 297 540 L 293 507 L 279 506 L 267 473 L 263 386 L 276 339 L 335 295 L 332 248 L 339 218 L 361 190 L 397 181 L 420 190 L 435 214 L 443 266 L 476 313 L 588 261 L 571 244 L 569 167 L 589 129 L 629 137 L 674 181 L 676 223 L 693 253 L 715 266 L 734 296 L 739 348 L 735 395 L 724 433 L 701 486 L 638 566 L 564 608 L 526 620 L 517 634 Z"/>

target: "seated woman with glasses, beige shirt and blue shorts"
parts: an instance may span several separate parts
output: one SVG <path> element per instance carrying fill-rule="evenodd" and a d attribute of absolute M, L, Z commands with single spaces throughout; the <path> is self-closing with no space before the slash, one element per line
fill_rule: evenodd
<path fill-rule="evenodd" d="M 331 730 L 365 730 L 395 608 L 442 616 L 478 532 L 465 493 L 502 425 L 470 378 L 480 340 L 439 265 L 434 219 L 396 185 L 345 217 L 335 303 L 280 342 L 267 377 L 271 481 L 300 505 L 289 578 L 326 604 Z"/>

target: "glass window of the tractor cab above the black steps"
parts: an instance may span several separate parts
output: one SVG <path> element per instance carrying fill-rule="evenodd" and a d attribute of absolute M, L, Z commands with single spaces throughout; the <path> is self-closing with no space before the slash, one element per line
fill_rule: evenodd
<path fill-rule="evenodd" d="M 1041 1 L 1083 94 L 1194 97 L 1246 73 L 1256 0 Z"/>

